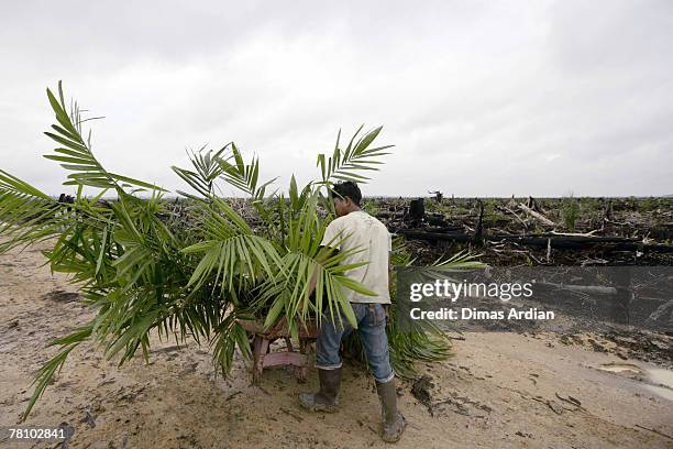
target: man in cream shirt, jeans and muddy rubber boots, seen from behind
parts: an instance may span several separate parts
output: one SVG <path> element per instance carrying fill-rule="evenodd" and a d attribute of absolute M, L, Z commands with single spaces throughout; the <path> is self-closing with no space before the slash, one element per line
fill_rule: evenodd
<path fill-rule="evenodd" d="M 385 441 L 399 440 L 406 421 L 397 410 L 395 373 L 390 366 L 388 339 L 386 336 L 388 293 L 388 270 L 391 250 L 390 233 L 385 225 L 360 208 L 362 194 L 355 183 L 336 184 L 333 189 L 335 218 L 326 229 L 323 247 L 334 247 L 338 251 L 360 249 L 344 259 L 344 264 L 368 262 L 346 272 L 347 276 L 361 282 L 377 296 L 349 293 L 349 299 L 357 320 L 357 332 L 367 355 L 369 369 L 376 380 L 376 391 L 382 405 Z M 311 283 L 311 292 L 315 282 Z M 341 339 L 353 327 L 343 317 L 323 316 L 316 350 L 316 368 L 320 379 L 317 393 L 301 393 L 299 402 L 313 412 L 334 412 L 339 404 L 336 396 L 341 384 Z"/>

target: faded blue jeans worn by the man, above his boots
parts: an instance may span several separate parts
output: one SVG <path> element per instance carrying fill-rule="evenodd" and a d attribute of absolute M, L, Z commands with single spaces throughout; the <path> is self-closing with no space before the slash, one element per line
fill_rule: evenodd
<path fill-rule="evenodd" d="M 351 303 L 357 321 L 360 341 L 367 354 L 367 363 L 378 382 L 388 382 L 395 376 L 390 366 L 388 352 L 388 337 L 386 336 L 386 310 L 382 304 Z M 353 331 L 345 316 L 339 309 L 343 327 L 339 318 L 334 317 L 332 324 L 329 310 L 322 316 L 320 332 L 316 344 L 316 368 L 321 370 L 336 370 L 341 368 L 339 349 L 341 339 Z"/>

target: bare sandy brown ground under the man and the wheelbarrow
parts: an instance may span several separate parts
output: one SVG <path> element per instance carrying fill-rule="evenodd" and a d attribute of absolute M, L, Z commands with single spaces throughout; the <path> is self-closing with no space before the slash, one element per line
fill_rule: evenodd
<path fill-rule="evenodd" d="M 45 343 L 91 315 L 52 276 L 40 248 L 0 256 L 0 426 L 18 425 L 34 370 L 55 353 Z M 65 294 L 64 294 L 65 293 Z M 606 371 L 606 366 L 626 366 Z M 673 393 L 653 386 L 657 366 L 553 333 L 467 333 L 455 355 L 421 365 L 429 382 L 404 383 L 409 427 L 399 448 L 673 448 Z M 664 375 L 670 371 L 661 371 Z M 336 414 L 302 410 L 285 369 L 250 385 L 242 360 L 230 380 L 214 376 L 208 348 L 154 339 L 151 366 L 122 368 L 92 344 L 75 350 L 24 426 L 67 423 L 69 448 L 365 448 L 379 406 L 373 380 L 346 365 Z M 423 397 L 424 395 L 424 397 Z M 669 398 L 666 398 L 666 395 Z M 423 401 L 419 401 L 423 399 Z M 0 447 L 60 447 L 2 440 Z"/>

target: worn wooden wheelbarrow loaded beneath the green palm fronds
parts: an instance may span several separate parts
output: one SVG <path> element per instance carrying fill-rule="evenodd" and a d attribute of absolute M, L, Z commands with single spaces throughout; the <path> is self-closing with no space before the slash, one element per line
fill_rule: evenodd
<path fill-rule="evenodd" d="M 293 365 L 297 381 L 306 382 L 308 375 L 308 358 L 306 350 L 310 339 L 318 338 L 318 322 L 309 320 L 306 327 L 297 324 L 299 329 L 299 352 L 295 351 L 289 335 L 289 326 L 286 318 L 282 318 L 273 328 L 265 331 L 264 325 L 257 320 L 239 319 L 238 322 L 253 338 L 253 368 L 252 381 L 258 383 L 262 372 L 268 366 Z M 271 343 L 277 339 L 285 339 L 286 350 L 282 352 L 269 352 Z"/>

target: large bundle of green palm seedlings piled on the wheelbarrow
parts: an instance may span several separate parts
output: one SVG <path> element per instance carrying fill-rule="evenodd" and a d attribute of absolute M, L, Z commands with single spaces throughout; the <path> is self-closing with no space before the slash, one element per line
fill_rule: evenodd
<path fill-rule="evenodd" d="M 257 319 L 267 328 L 286 319 L 293 336 L 307 320 L 320 320 L 323 308 L 341 309 L 354 324 L 346 292 L 371 292 L 345 275 L 355 266 L 344 263 L 347 252 L 326 254 L 320 242 L 334 217 L 330 185 L 335 179 L 365 183 L 363 172 L 378 169 L 388 154 L 391 145 L 374 145 L 380 128 L 361 135 L 361 127 L 345 149 L 338 136 L 332 154 L 318 156 L 320 178 L 299 188 L 293 176 L 287 196 L 267 194 L 275 179 L 260 180 L 260 160 L 246 163 L 234 143 L 217 152 L 192 152 L 191 167 L 173 167 L 194 190 L 178 191 L 185 219 L 164 188 L 100 164 L 90 131 L 84 138 L 87 119 L 76 102 L 66 109 L 60 83 L 57 96 L 47 89 L 47 97 L 56 123 L 46 135 L 58 146 L 45 157 L 69 172 L 64 185 L 76 190 L 75 200 L 59 202 L 0 171 L 0 253 L 48 241 L 44 255 L 53 272 L 68 273 L 96 315 L 49 343 L 60 350 L 37 371 L 24 419 L 70 351 L 86 340 L 96 341 L 108 359 L 119 357 L 121 365 L 139 349 L 148 360 L 153 331 L 162 340 L 194 338 L 212 347 L 216 366 L 227 374 L 236 348 L 251 355 L 241 319 Z M 251 217 L 244 219 L 219 194 L 221 183 L 249 197 Z M 96 195 L 85 195 L 85 187 Z M 394 263 L 412 263 L 397 239 Z M 476 265 L 460 255 L 438 261 L 434 269 Z M 306 300 L 313 275 L 315 298 Z M 388 326 L 393 363 L 404 376 L 413 374 L 416 360 L 449 355 L 438 328 L 423 321 L 415 326 L 404 332 Z"/>

